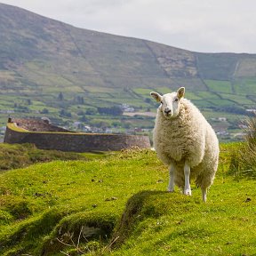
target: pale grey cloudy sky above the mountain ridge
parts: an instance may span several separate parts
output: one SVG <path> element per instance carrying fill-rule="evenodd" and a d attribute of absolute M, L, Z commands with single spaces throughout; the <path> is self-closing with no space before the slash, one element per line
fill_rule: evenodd
<path fill-rule="evenodd" d="M 0 0 L 78 28 L 195 52 L 256 53 L 255 0 Z"/>

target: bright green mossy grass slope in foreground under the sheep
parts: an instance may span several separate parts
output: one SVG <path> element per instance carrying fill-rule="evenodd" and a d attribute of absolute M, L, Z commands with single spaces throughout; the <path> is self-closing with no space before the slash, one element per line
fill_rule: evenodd
<path fill-rule="evenodd" d="M 0 174 L 2 255 L 254 255 L 255 180 L 228 174 L 239 144 L 221 146 L 208 202 L 166 193 L 156 153 L 126 150 Z"/>

